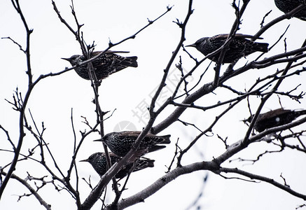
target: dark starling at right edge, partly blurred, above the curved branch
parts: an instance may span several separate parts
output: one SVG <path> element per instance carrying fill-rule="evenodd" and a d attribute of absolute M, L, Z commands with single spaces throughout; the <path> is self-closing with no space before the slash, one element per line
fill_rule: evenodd
<path fill-rule="evenodd" d="M 295 111 L 283 108 L 275 109 L 260 114 L 256 120 L 254 128 L 258 132 L 263 132 L 264 130 L 271 127 L 277 127 L 280 125 L 286 125 L 288 123 L 291 123 L 293 120 L 302 115 L 306 115 L 306 110 Z M 250 116 L 249 118 L 243 121 L 244 123 L 251 123 L 252 119 L 253 116 Z"/>

